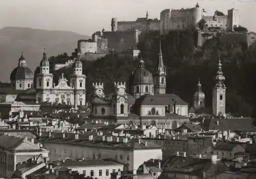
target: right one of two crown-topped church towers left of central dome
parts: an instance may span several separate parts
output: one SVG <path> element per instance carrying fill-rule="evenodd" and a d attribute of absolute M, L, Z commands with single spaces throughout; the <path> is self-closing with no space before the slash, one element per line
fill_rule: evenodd
<path fill-rule="evenodd" d="M 113 100 L 113 115 L 114 116 L 128 116 L 128 97 L 125 92 L 126 86 L 124 83 L 115 82 L 115 97 Z"/>

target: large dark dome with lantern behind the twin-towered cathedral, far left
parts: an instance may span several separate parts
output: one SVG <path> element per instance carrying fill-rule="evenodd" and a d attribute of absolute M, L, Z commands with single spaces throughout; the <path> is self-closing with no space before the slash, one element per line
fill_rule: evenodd
<path fill-rule="evenodd" d="M 26 80 L 26 79 L 33 80 L 34 74 L 31 71 L 31 69 L 27 67 L 26 59 L 24 58 L 22 53 L 22 55 L 18 60 L 18 66 L 14 68 L 11 72 L 10 80 L 16 81 L 16 80 Z"/>

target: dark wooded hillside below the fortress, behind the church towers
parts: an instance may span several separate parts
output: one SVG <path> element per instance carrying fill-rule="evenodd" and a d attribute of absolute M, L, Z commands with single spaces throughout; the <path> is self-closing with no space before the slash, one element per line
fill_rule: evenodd
<path fill-rule="evenodd" d="M 256 45 L 244 50 L 243 44 L 223 42 L 222 35 L 208 39 L 201 47 L 196 47 L 197 32 L 193 29 L 170 31 L 166 36 L 159 32 L 147 32 L 142 42 L 138 43 L 141 53 L 137 59 L 128 54 L 107 55 L 96 61 L 83 61 L 83 73 L 87 75 L 87 94 L 92 92 L 93 82 L 104 83 L 104 93 L 114 90 L 114 82 L 126 82 L 129 92 L 129 76 L 137 67 L 138 60 L 145 61 L 145 67 L 154 72 L 158 59 L 159 41 L 161 40 L 163 61 L 166 65 L 166 93 L 175 93 L 191 104 L 198 79 L 205 93 L 206 107 L 211 108 L 212 87 L 219 57 L 223 64 L 226 78 L 226 112 L 234 116 L 251 116 L 256 106 Z M 67 53 L 50 57 L 52 65 L 67 58 Z M 64 73 L 69 80 L 70 68 L 53 71 L 55 84 Z M 35 74 L 38 73 L 38 68 Z"/>

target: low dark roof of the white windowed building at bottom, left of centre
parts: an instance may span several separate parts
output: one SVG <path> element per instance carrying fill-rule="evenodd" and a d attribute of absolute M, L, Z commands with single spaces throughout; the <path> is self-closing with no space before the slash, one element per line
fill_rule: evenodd
<path fill-rule="evenodd" d="M 52 162 L 53 164 L 57 165 L 57 161 Z M 120 166 L 121 164 L 112 162 L 112 161 L 108 161 L 108 160 L 100 160 L 100 159 L 86 159 L 86 160 L 66 160 L 65 162 L 61 162 L 61 166 L 64 167 L 96 167 L 96 166 L 110 166 L 110 165 L 118 165 Z"/>

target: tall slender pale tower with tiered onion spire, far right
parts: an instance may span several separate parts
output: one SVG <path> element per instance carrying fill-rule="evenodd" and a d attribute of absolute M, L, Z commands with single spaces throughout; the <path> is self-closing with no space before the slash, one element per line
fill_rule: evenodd
<path fill-rule="evenodd" d="M 218 71 L 216 75 L 216 85 L 212 89 L 212 113 L 216 116 L 226 114 L 226 86 L 224 85 L 225 77 L 222 72 L 222 64 L 219 59 Z"/>

